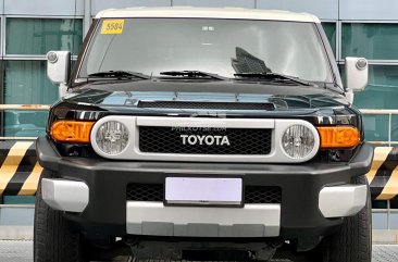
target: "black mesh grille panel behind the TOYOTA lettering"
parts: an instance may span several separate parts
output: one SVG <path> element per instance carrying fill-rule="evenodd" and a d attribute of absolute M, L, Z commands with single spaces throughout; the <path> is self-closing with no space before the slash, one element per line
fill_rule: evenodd
<path fill-rule="evenodd" d="M 227 136 L 229 146 L 215 144 L 186 145 L 181 135 Z M 190 153 L 190 154 L 269 154 L 271 152 L 271 129 L 248 128 L 174 128 L 139 127 L 141 152 Z"/>

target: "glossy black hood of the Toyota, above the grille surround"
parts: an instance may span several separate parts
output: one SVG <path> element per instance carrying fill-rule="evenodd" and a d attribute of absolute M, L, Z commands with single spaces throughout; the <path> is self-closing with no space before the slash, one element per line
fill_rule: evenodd
<path fill-rule="evenodd" d="M 166 103 L 166 107 L 142 105 L 148 105 L 148 102 L 163 105 Z M 175 107 L 176 103 L 184 103 L 184 107 Z M 212 108 L 214 103 L 216 109 Z M 220 108 L 221 103 L 226 108 Z M 191 104 L 196 107 L 190 107 Z M 263 107 L 264 104 L 266 107 Z M 231 105 L 233 107 L 229 108 Z M 343 95 L 318 86 L 159 78 L 136 82 L 102 80 L 83 85 L 71 90 L 54 104 L 50 112 L 50 122 L 61 118 L 97 121 L 112 114 L 235 118 L 294 117 L 315 125 L 360 126 L 361 123 L 359 111 L 352 108 Z"/>

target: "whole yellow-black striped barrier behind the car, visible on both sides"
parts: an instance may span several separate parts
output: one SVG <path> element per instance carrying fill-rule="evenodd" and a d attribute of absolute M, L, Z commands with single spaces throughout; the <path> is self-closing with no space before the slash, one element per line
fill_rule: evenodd
<path fill-rule="evenodd" d="M 34 196 L 41 172 L 35 140 L 0 142 L 0 196 Z M 372 199 L 398 200 L 398 148 L 375 147 L 366 177 Z"/>

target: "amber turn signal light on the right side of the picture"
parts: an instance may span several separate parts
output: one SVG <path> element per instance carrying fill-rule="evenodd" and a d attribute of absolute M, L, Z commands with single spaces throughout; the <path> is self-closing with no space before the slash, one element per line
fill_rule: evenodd
<path fill-rule="evenodd" d="M 353 126 L 319 126 L 321 148 L 355 148 L 360 142 L 359 130 Z"/>

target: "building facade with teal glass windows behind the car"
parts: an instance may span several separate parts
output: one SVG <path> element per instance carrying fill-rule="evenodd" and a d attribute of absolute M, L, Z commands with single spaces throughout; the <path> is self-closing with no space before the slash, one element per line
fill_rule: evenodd
<path fill-rule="evenodd" d="M 356 93 L 355 104 L 359 109 L 398 109 L 396 0 L 0 0 L 0 103 L 57 101 L 58 88 L 46 75 L 46 53 L 70 50 L 76 59 L 84 35 L 100 10 L 173 5 L 313 13 L 322 21 L 343 76 L 346 57 L 370 61 L 369 85 Z M 1 114 L 0 132 L 2 136 L 38 136 L 45 132 L 46 118 L 47 112 L 9 110 Z M 398 141 L 398 115 L 366 115 L 364 122 L 368 140 Z"/>

